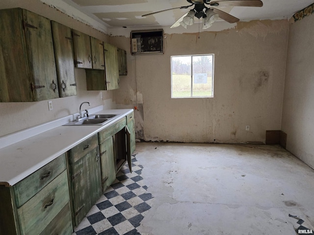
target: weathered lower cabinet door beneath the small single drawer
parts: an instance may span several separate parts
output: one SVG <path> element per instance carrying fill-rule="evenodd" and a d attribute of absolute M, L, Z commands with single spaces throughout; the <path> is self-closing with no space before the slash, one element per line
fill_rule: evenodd
<path fill-rule="evenodd" d="M 98 146 L 71 165 L 71 180 L 77 226 L 102 193 Z"/>

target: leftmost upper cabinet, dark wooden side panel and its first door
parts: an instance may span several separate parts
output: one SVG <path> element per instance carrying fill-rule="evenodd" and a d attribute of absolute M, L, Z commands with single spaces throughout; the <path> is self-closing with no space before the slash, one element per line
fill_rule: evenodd
<path fill-rule="evenodd" d="M 0 102 L 59 97 L 50 20 L 1 9 L 0 32 Z"/>

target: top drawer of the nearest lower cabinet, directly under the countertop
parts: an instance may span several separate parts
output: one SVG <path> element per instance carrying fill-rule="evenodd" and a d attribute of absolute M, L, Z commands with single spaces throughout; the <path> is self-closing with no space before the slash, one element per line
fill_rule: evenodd
<path fill-rule="evenodd" d="M 48 185 L 56 176 L 65 170 L 65 154 L 54 159 L 51 163 L 41 167 L 33 174 L 14 185 L 17 208 L 26 203 L 32 196 Z"/>

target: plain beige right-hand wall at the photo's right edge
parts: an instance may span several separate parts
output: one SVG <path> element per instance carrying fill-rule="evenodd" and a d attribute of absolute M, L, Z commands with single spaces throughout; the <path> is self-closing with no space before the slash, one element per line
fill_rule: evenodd
<path fill-rule="evenodd" d="M 314 168 L 314 15 L 289 24 L 282 130 L 287 149 Z"/>

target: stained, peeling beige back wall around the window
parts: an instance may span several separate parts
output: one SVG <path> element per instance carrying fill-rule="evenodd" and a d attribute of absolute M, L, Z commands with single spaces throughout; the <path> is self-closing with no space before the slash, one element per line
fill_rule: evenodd
<path fill-rule="evenodd" d="M 200 35 L 165 34 L 164 54 L 132 56 L 130 38 L 110 41 L 127 51 L 128 75 L 120 76 L 115 98 L 118 107 L 141 105 L 135 111 L 139 139 L 264 142 L 266 130 L 280 130 L 287 20 L 242 22 Z M 171 99 L 171 56 L 207 53 L 215 55 L 214 97 Z"/>

